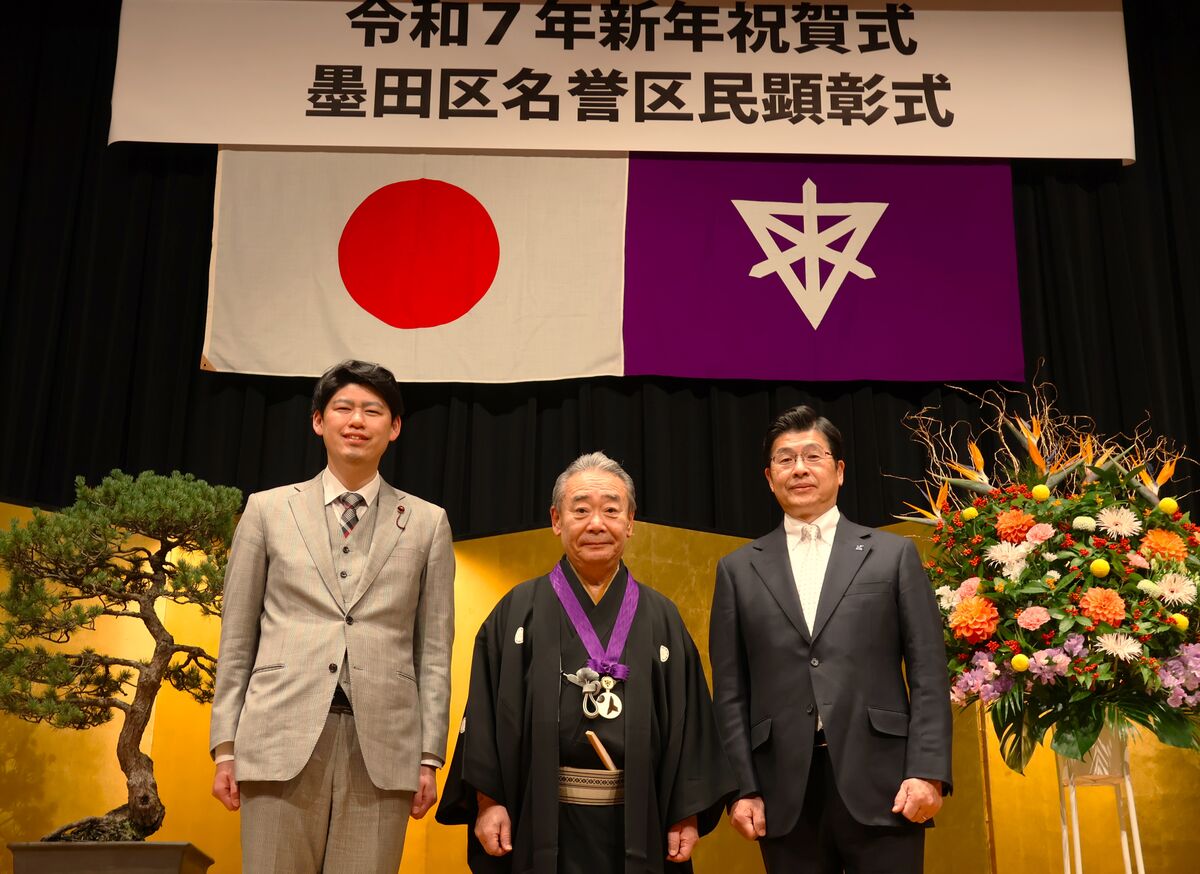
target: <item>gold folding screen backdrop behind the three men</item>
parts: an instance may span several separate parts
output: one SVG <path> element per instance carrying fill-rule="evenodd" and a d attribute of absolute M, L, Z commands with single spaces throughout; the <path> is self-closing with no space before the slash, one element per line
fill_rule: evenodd
<path fill-rule="evenodd" d="M 29 510 L 0 504 L 0 522 L 29 519 Z M 708 604 L 716 561 L 740 538 L 640 522 L 626 561 L 638 581 L 670 595 L 683 613 L 704 662 Z M 515 583 L 545 573 L 559 556 L 548 529 L 455 544 L 458 561 L 451 725 L 462 717 L 472 641 L 480 622 Z M 162 617 L 179 639 L 216 648 L 220 625 L 191 606 L 169 605 Z M 150 641 L 133 623 L 97 623 L 78 646 L 139 657 Z M 786 669 L 786 666 L 784 666 Z M 208 707 L 170 688 L 158 695 L 145 749 L 155 760 L 167 820 L 160 840 L 191 840 L 216 860 L 214 874 L 240 870 L 238 818 L 209 795 Z M 1040 750 L 1025 777 L 1004 767 L 995 740 L 979 730 L 974 710 L 955 716 L 955 792 L 929 834 L 929 874 L 1028 874 L 1062 870 L 1054 756 Z M 125 801 L 116 765 L 120 719 L 88 731 L 61 731 L 0 716 L 0 840 L 31 840 L 73 819 L 103 813 Z M 990 730 L 989 730 L 990 732 Z M 451 737 L 454 732 L 451 731 Z M 1146 740 L 1133 746 L 1133 780 L 1147 870 L 1189 874 L 1200 857 L 1200 830 L 1190 813 L 1200 801 L 1200 755 Z M 1116 806 L 1109 788 L 1080 790 L 1084 862 L 1088 874 L 1122 870 Z M 762 870 L 757 849 L 727 822 L 696 851 L 698 874 Z M 409 827 L 401 874 L 466 872 L 462 827 L 426 818 Z M 12 870 L 7 851 L 0 874 Z"/>

